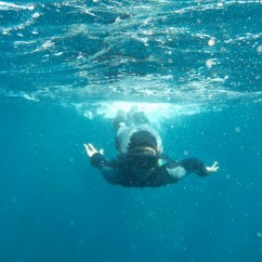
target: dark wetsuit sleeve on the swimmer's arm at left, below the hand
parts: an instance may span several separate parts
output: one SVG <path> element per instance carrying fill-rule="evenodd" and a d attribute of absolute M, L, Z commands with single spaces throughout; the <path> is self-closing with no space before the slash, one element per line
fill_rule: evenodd
<path fill-rule="evenodd" d="M 110 184 L 118 184 L 117 172 L 119 170 L 119 163 L 117 160 L 107 160 L 102 154 L 95 153 L 90 158 L 91 165 L 97 168 L 103 178 Z"/>

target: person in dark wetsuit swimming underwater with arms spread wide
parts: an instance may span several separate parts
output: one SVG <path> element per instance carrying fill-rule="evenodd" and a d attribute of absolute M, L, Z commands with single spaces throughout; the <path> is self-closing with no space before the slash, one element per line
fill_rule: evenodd
<path fill-rule="evenodd" d="M 218 171 L 218 162 L 206 167 L 197 158 L 174 161 L 162 154 L 159 133 L 149 125 L 143 112 L 128 114 L 118 110 L 113 125 L 117 131 L 115 144 L 118 156 L 108 160 L 103 149 L 84 144 L 91 165 L 110 184 L 127 187 L 157 187 L 174 184 L 188 173 L 207 176 Z"/>

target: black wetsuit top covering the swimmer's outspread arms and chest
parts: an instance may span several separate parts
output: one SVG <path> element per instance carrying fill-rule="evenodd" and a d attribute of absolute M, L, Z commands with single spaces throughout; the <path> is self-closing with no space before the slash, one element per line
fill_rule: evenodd
<path fill-rule="evenodd" d="M 208 175 L 205 165 L 196 158 L 173 161 L 159 155 L 153 173 L 143 181 L 133 171 L 127 154 L 119 154 L 116 159 L 107 160 L 102 154 L 96 153 L 90 159 L 92 166 L 101 171 L 107 182 L 127 187 L 156 187 L 174 184 L 191 172 L 200 176 Z"/>

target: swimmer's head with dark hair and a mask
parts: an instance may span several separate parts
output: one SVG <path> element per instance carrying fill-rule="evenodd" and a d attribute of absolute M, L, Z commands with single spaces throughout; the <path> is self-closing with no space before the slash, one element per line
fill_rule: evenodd
<path fill-rule="evenodd" d="M 130 137 L 128 156 L 132 170 L 140 176 L 152 174 L 157 166 L 157 141 L 145 130 L 136 131 Z"/>

